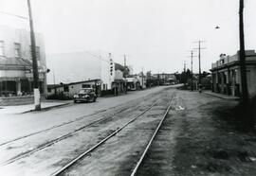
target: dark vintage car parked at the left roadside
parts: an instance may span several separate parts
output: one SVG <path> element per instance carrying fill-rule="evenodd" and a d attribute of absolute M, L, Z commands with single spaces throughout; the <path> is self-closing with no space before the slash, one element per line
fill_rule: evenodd
<path fill-rule="evenodd" d="M 94 89 L 92 88 L 82 88 L 78 94 L 75 94 L 73 99 L 74 99 L 74 103 L 78 102 L 78 101 L 83 101 L 83 102 L 95 102 L 96 101 L 96 94 Z"/>

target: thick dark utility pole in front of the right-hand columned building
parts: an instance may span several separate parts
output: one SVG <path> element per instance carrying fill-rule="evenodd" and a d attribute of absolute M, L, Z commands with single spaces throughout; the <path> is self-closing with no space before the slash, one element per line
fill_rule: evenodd
<path fill-rule="evenodd" d="M 241 82 L 242 82 L 242 97 L 243 102 L 248 102 L 247 90 L 247 65 L 246 65 L 246 51 L 245 51 L 245 36 L 244 36 L 244 0 L 240 0 L 239 6 L 239 36 L 240 36 L 240 69 L 241 69 Z"/>

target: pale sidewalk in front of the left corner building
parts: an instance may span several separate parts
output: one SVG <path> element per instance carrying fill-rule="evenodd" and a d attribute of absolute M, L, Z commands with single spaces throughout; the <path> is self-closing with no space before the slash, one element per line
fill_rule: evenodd
<path fill-rule="evenodd" d="M 47 110 L 70 104 L 71 100 L 43 100 L 41 102 L 41 109 Z M 0 106 L 0 114 L 24 114 L 34 110 L 34 104 L 16 105 L 16 106 Z"/>

